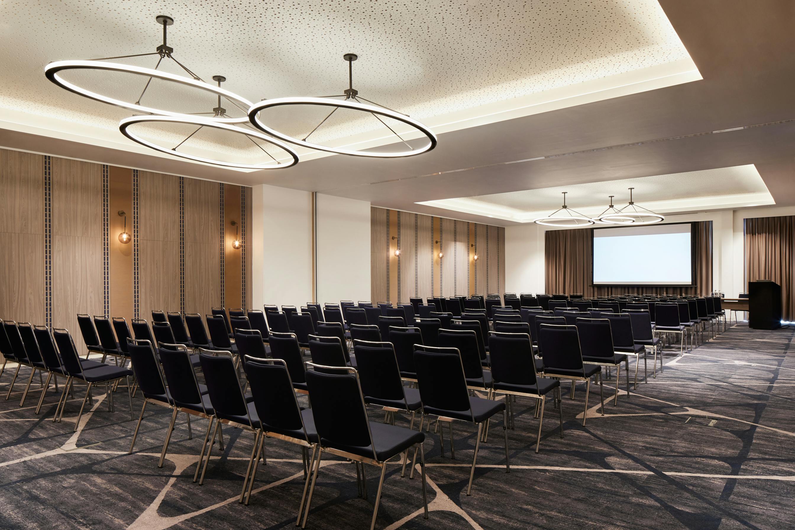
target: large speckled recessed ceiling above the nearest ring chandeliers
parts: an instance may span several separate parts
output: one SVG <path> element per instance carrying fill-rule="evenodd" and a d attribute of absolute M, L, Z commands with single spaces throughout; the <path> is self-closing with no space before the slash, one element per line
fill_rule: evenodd
<path fill-rule="evenodd" d="M 0 126 L 153 154 L 118 133 L 118 120 L 132 113 L 64 91 L 42 70 L 52 60 L 153 52 L 161 42 L 158 14 L 175 19 L 169 45 L 181 63 L 206 80 L 225 75 L 223 87 L 250 101 L 341 94 L 348 80 L 342 56 L 355 52 L 359 94 L 410 114 L 436 133 L 701 79 L 656 0 L 10 1 L 0 5 Z M 153 68 L 157 57 L 118 62 Z M 169 60 L 160 68 L 184 73 Z M 64 77 L 132 100 L 146 82 L 107 72 Z M 149 106 L 183 112 L 206 112 L 216 104 L 211 95 L 157 79 L 145 97 Z M 224 106 L 229 114 L 241 114 Z M 277 130 L 303 137 L 327 113 L 291 108 L 267 118 Z M 409 141 L 417 137 L 405 126 L 390 125 Z M 137 133 L 163 145 L 176 144 L 188 130 L 140 128 Z M 369 115 L 340 111 L 312 140 L 369 149 L 392 144 L 395 137 Z M 184 148 L 227 161 L 262 160 L 258 146 L 226 133 L 204 131 Z M 278 149 L 266 149 L 285 158 Z M 299 152 L 304 160 L 327 156 Z"/>

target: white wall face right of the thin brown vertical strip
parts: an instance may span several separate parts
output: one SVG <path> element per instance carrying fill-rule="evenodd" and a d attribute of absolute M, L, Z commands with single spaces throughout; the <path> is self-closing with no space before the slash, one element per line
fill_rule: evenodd
<path fill-rule="evenodd" d="M 370 300 L 370 203 L 316 195 L 317 300 Z"/>

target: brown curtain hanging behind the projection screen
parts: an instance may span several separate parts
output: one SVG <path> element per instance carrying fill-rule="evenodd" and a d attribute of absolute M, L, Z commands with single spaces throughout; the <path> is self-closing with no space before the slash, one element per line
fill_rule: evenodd
<path fill-rule="evenodd" d="M 591 285 L 591 228 L 545 232 L 545 280 L 549 294 L 583 293 L 584 296 L 617 296 L 624 293 L 683 296 L 712 291 L 712 221 L 696 222 L 696 285 L 694 287 L 593 287 Z M 665 259 L 643 256 L 640 259 Z"/>

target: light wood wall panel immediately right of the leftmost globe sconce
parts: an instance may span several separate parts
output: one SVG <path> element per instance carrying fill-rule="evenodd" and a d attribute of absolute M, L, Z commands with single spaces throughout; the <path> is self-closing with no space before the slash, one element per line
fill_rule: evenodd
<path fill-rule="evenodd" d="M 180 310 L 180 180 L 138 175 L 139 312 L 150 320 L 153 310 Z"/>

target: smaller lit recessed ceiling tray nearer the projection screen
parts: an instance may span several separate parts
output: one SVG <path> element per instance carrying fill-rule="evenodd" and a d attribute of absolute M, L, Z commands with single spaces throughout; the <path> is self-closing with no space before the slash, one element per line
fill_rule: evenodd
<path fill-rule="evenodd" d="M 615 195 L 615 207 L 626 206 L 630 199 L 628 188 L 634 188 L 635 203 L 661 214 L 775 204 L 753 164 L 417 204 L 506 221 L 533 222 L 560 208 L 564 191 L 568 207 L 595 217 L 610 203 L 609 195 Z"/>

